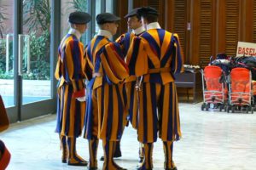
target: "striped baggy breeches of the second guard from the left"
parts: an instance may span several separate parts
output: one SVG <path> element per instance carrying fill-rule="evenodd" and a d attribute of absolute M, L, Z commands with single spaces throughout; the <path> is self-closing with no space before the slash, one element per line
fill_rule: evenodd
<path fill-rule="evenodd" d="M 101 87 L 87 92 L 89 97 L 85 113 L 84 138 L 119 140 L 125 122 L 123 86 L 104 83 Z"/>

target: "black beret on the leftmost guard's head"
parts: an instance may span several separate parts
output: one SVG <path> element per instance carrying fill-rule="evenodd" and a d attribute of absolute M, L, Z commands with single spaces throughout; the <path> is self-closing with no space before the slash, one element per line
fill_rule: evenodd
<path fill-rule="evenodd" d="M 68 17 L 68 21 L 72 24 L 87 24 L 90 20 L 90 14 L 80 11 L 73 12 Z"/>

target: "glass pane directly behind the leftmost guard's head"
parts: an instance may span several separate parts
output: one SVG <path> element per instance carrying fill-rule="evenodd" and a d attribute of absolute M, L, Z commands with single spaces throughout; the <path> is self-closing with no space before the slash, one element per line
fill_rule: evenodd
<path fill-rule="evenodd" d="M 88 0 L 61 0 L 61 38 L 69 30 L 68 16 L 74 11 L 88 12 Z M 86 34 L 83 34 L 81 41 L 86 44 Z"/>

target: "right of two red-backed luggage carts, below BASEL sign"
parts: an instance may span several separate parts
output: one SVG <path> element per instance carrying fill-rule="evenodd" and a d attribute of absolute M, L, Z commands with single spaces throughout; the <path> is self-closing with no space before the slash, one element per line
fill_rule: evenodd
<path fill-rule="evenodd" d="M 227 112 L 246 108 L 253 114 L 253 88 L 251 71 L 246 68 L 234 68 L 230 72 L 229 105 Z"/>

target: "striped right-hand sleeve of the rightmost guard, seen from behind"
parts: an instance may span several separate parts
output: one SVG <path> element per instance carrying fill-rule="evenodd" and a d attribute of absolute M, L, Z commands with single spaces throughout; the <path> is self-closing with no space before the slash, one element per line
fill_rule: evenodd
<path fill-rule="evenodd" d="M 179 73 L 183 71 L 183 51 L 176 33 L 172 35 L 173 54 L 172 54 L 172 72 Z"/>

